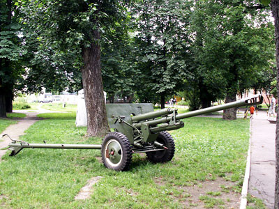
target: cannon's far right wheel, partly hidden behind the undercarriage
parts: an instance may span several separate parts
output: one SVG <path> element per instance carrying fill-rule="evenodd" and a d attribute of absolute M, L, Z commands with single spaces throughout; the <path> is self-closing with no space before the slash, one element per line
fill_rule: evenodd
<path fill-rule="evenodd" d="M 154 163 L 171 161 L 175 151 L 174 139 L 171 134 L 166 131 L 160 132 L 156 141 L 166 146 L 167 150 L 146 153 L 147 159 Z"/>

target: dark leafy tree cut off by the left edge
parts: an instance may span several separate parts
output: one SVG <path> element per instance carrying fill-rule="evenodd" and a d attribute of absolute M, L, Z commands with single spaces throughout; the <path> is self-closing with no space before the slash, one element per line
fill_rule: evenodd
<path fill-rule="evenodd" d="M 20 25 L 11 0 L 0 1 L 0 117 L 12 111 L 14 89 L 24 73 L 20 62 L 26 54 L 20 45 Z"/>

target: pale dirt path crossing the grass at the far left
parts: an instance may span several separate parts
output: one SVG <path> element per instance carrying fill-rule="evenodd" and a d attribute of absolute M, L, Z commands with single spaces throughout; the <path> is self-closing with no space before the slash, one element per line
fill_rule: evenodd
<path fill-rule="evenodd" d="M 25 112 L 27 116 L 25 118 L 18 118 L 16 121 L 16 124 L 9 125 L 6 130 L 4 130 L 1 135 L 0 139 L 3 141 L 0 141 L 0 161 L 1 157 L 8 151 L 8 150 L 1 150 L 2 148 L 6 148 L 8 144 L 10 144 L 10 139 L 8 137 L 2 137 L 3 134 L 8 134 L 10 138 L 12 139 L 20 139 L 20 136 L 24 135 L 24 131 L 27 130 L 33 123 L 36 121 L 41 120 L 42 118 L 36 117 L 38 114 L 31 113 L 31 112 Z"/>

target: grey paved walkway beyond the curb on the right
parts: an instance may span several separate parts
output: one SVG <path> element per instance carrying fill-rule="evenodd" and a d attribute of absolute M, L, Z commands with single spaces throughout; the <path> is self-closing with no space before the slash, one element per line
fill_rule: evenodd
<path fill-rule="evenodd" d="M 276 124 L 267 121 L 266 111 L 251 120 L 251 167 L 248 193 L 273 208 L 275 192 Z"/>

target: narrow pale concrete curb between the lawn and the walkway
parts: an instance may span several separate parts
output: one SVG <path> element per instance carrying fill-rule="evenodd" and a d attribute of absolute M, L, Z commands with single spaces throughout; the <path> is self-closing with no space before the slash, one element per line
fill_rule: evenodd
<path fill-rule="evenodd" d="M 243 180 L 243 185 L 241 189 L 241 202 L 239 209 L 245 209 L 247 206 L 247 194 L 248 194 L 248 184 L 250 178 L 250 167 L 251 167 L 251 130 L 252 130 L 252 120 L 250 119 L 250 137 L 249 137 L 249 148 L 246 160 L 246 171 Z"/>

